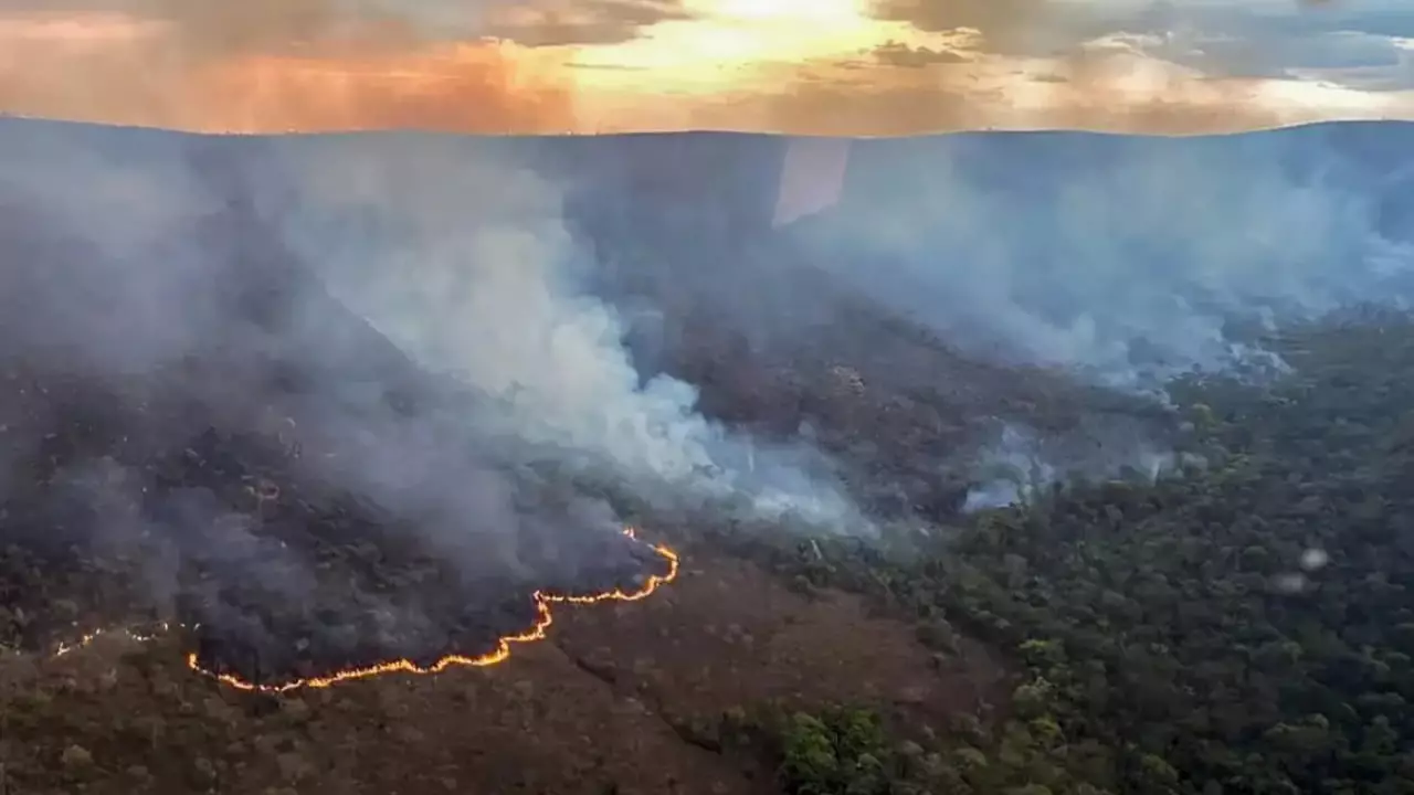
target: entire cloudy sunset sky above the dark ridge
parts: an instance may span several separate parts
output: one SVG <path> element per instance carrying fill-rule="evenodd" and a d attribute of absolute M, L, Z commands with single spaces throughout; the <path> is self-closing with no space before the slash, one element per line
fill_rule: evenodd
<path fill-rule="evenodd" d="M 0 112 L 247 133 L 1414 119 L 1414 3 L 0 0 Z"/>

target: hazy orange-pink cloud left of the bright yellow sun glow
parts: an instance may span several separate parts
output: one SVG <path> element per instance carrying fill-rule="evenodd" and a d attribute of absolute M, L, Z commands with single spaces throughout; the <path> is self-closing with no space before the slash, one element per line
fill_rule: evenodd
<path fill-rule="evenodd" d="M 0 109 L 189 130 L 560 132 L 546 45 L 611 44 L 676 0 L 0 0 Z"/>

